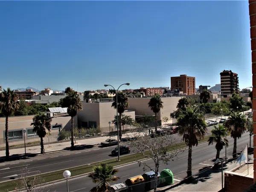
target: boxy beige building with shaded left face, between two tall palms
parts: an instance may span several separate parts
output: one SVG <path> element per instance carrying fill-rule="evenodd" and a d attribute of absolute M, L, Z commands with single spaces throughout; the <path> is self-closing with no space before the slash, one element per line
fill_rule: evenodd
<path fill-rule="evenodd" d="M 78 112 L 78 125 L 84 128 L 99 127 L 102 132 L 108 132 L 109 128 L 115 130 L 112 121 L 116 116 L 116 109 L 109 102 L 82 102 L 83 110 Z M 135 119 L 135 112 L 126 110 L 124 115 Z M 111 122 L 109 126 L 109 122 Z M 127 128 L 128 126 L 125 126 Z"/>

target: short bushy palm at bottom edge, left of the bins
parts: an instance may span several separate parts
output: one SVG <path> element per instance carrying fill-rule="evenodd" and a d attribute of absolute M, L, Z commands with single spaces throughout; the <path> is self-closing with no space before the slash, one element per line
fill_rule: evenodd
<path fill-rule="evenodd" d="M 92 178 L 93 183 L 99 183 L 96 187 L 91 189 L 91 192 L 105 192 L 107 191 L 109 182 L 116 181 L 119 177 L 113 176 L 118 172 L 113 166 L 108 164 L 100 164 L 99 166 L 93 167 L 93 172 L 88 177 Z"/>

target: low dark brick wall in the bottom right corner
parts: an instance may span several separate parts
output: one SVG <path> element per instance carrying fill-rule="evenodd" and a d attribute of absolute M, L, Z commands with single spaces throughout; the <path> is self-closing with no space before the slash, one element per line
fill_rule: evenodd
<path fill-rule="evenodd" d="M 253 178 L 244 175 L 236 175 L 234 172 L 225 172 L 224 187 L 225 192 L 244 192 L 253 184 Z"/>

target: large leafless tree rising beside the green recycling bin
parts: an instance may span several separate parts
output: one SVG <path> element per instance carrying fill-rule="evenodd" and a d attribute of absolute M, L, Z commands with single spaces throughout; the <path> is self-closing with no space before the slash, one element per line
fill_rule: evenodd
<path fill-rule="evenodd" d="M 157 191 L 157 175 L 159 171 L 159 164 L 163 162 L 168 164 L 181 150 L 179 145 L 173 146 L 173 150 L 170 150 L 170 145 L 175 144 L 172 140 L 172 136 L 165 134 L 160 137 L 151 138 L 148 134 L 148 129 L 143 125 L 137 124 L 137 132 L 133 133 L 133 138 L 129 144 L 134 148 L 134 152 L 142 154 L 145 158 L 151 159 L 154 165 L 145 160 L 136 160 L 139 166 L 143 166 L 143 171 L 150 169 L 154 171 L 154 192 Z"/>

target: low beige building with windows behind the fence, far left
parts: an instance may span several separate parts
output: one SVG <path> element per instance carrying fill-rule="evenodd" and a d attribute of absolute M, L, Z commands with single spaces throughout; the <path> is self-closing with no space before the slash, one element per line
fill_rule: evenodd
<path fill-rule="evenodd" d="M 9 117 L 9 140 L 23 138 L 23 130 L 27 137 L 36 136 L 31 125 L 34 115 L 11 116 Z M 5 117 L 0 118 L 0 138 L 5 137 Z M 58 132 L 62 129 L 71 128 L 71 117 L 63 114 L 52 117 L 51 132 Z M 77 126 L 77 118 L 74 117 L 74 126 Z"/>

